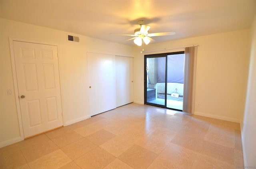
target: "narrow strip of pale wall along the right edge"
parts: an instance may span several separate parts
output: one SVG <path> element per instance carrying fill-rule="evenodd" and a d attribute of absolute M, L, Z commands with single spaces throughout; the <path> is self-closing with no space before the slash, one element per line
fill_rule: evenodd
<path fill-rule="evenodd" d="M 242 143 L 245 166 L 256 166 L 256 16 L 251 27 L 250 68 Z"/>

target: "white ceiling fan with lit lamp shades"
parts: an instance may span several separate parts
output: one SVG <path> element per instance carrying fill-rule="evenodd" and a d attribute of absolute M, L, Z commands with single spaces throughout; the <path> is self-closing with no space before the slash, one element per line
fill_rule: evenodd
<path fill-rule="evenodd" d="M 134 39 L 134 43 L 138 46 L 141 46 L 143 43 L 148 45 L 151 40 L 153 40 L 152 36 L 165 36 L 165 35 L 175 35 L 175 31 L 170 32 L 158 32 L 158 33 L 148 33 L 148 30 L 150 29 L 149 25 L 145 25 L 143 20 L 139 20 L 138 24 L 140 25 L 140 28 L 137 28 L 134 30 L 134 35 L 129 34 L 116 34 L 116 33 L 110 33 L 111 35 L 126 35 L 126 36 L 134 36 L 131 39 L 128 39 L 126 41 Z"/>

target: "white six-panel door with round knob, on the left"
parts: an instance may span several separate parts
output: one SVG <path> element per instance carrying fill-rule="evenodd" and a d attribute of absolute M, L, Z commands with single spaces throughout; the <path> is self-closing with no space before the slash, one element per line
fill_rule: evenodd
<path fill-rule="evenodd" d="M 62 126 L 57 46 L 13 45 L 24 137 Z"/>

